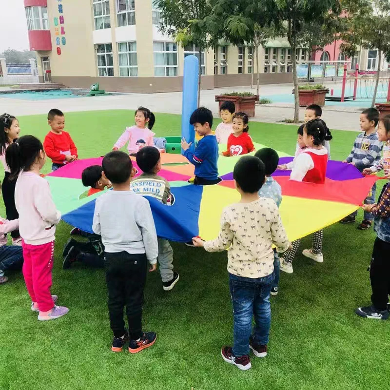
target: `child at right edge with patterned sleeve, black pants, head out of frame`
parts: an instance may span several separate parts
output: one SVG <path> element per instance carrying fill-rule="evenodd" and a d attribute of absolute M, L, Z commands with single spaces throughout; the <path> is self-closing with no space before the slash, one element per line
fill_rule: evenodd
<path fill-rule="evenodd" d="M 390 139 L 389 130 L 387 139 Z M 375 216 L 374 231 L 377 237 L 370 264 L 372 305 L 357 308 L 355 313 L 365 318 L 386 320 L 390 317 L 390 183 L 383 187 L 377 205 L 365 204 L 362 208 Z"/>

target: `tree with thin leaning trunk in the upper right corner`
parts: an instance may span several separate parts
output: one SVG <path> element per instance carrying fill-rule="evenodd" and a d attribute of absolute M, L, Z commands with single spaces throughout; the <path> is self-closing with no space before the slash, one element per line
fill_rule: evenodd
<path fill-rule="evenodd" d="M 378 71 L 371 103 L 371 107 L 374 107 L 382 53 L 390 60 L 390 0 L 346 0 L 343 5 L 346 7 L 348 17 L 347 29 L 341 34 L 344 40 L 341 45 L 342 51 L 351 56 L 359 46 L 368 50 L 378 50 Z"/>

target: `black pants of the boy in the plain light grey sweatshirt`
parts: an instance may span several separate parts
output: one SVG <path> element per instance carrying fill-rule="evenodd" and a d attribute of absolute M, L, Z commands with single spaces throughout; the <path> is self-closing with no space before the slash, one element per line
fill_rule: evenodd
<path fill-rule="evenodd" d="M 143 291 L 148 264 L 146 254 L 104 253 L 108 289 L 108 312 L 114 337 L 125 333 L 123 309 L 126 306 L 132 340 L 142 334 Z"/>

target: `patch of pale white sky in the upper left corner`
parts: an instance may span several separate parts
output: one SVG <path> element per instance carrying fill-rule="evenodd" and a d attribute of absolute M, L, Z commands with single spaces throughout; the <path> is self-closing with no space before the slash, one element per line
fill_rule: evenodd
<path fill-rule="evenodd" d="M 0 0 L 0 53 L 8 49 L 29 50 L 23 0 Z"/>

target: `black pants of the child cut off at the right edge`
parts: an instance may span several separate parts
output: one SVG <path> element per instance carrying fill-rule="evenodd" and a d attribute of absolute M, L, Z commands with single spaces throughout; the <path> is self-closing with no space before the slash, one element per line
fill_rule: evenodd
<path fill-rule="evenodd" d="M 387 309 L 390 295 L 390 242 L 376 237 L 370 267 L 371 302 L 380 312 Z"/>

